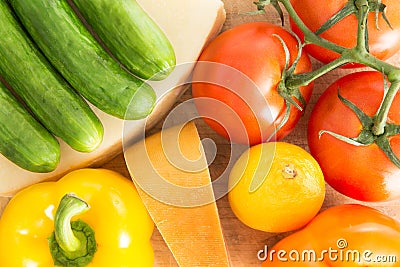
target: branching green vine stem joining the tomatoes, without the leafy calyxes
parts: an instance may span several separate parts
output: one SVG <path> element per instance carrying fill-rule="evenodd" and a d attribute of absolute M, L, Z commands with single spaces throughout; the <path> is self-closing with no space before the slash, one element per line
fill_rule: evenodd
<path fill-rule="evenodd" d="M 370 0 L 349 0 L 354 1 L 356 7 L 355 15 L 359 21 L 358 23 L 358 34 L 357 34 L 357 45 L 353 48 L 345 48 L 338 46 L 311 31 L 298 16 L 294 10 L 290 0 L 259 0 L 256 2 L 258 9 L 262 9 L 268 4 L 279 2 L 281 3 L 286 11 L 288 12 L 291 19 L 296 23 L 297 27 L 304 34 L 304 42 L 306 44 L 315 44 L 328 50 L 334 51 L 341 56 L 322 66 L 321 68 L 303 74 L 293 74 L 286 78 L 285 84 L 288 88 L 296 88 L 304 86 L 312 82 L 313 80 L 321 77 L 322 75 L 332 71 L 333 69 L 340 67 L 346 63 L 354 62 L 359 63 L 367 67 L 371 67 L 384 75 L 387 76 L 388 81 L 391 83 L 388 92 L 385 94 L 381 107 L 379 108 L 377 115 L 375 116 L 373 134 L 379 136 L 385 132 L 385 126 L 387 124 L 387 117 L 390 106 L 400 89 L 400 68 L 393 66 L 385 61 L 379 60 L 372 56 L 368 51 L 368 29 L 367 19 L 370 13 Z M 378 3 L 373 3 L 373 12 L 376 12 Z M 274 6 L 275 6 L 274 5 Z M 384 15 L 384 14 L 383 14 Z M 386 17 L 384 17 L 387 21 Z M 388 21 L 387 21 L 388 23 Z M 390 26 L 390 24 L 389 24 Z"/>

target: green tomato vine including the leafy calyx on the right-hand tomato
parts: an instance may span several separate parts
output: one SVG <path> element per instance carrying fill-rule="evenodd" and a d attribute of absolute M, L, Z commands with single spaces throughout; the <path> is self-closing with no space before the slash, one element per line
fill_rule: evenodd
<path fill-rule="evenodd" d="M 398 125 L 392 125 L 388 123 L 389 109 L 397 92 L 400 89 L 400 68 L 373 56 L 370 53 L 368 46 L 367 20 L 368 15 L 371 12 L 375 13 L 375 27 L 378 27 L 378 14 L 382 14 L 382 18 L 385 20 L 385 23 L 391 27 L 390 21 L 385 15 L 386 6 L 382 4 L 380 0 L 349 0 L 348 3 L 338 13 L 333 15 L 317 31 L 313 32 L 306 26 L 306 24 L 296 13 L 296 10 L 293 8 L 290 0 L 259 0 L 258 2 L 254 2 L 254 4 L 256 4 L 259 12 L 265 12 L 265 7 L 267 5 L 272 5 L 278 11 L 283 21 L 283 12 L 280 7 L 280 4 L 282 4 L 288 12 L 290 18 L 304 34 L 305 44 L 318 45 L 340 54 L 337 59 L 323 65 L 319 69 L 302 74 L 292 73 L 290 75 L 285 75 L 285 80 L 282 82 L 284 82 L 287 90 L 290 91 L 293 88 L 308 85 L 324 74 L 348 63 L 358 63 L 367 67 L 371 67 L 387 77 L 387 81 L 390 83 L 390 86 L 385 90 L 383 101 L 376 115 L 373 117 L 368 117 L 368 119 L 365 119 L 365 116 L 361 116 L 361 113 L 359 112 L 358 115 L 365 119 L 360 119 L 362 122 L 365 122 L 363 123 L 364 129 L 366 128 L 365 124 L 368 124 L 368 133 L 372 135 L 370 140 L 375 140 L 375 143 L 382 149 L 382 151 L 385 152 L 388 158 L 400 168 L 400 160 L 394 153 L 391 153 L 392 150 L 388 141 L 388 137 L 393 136 L 393 134 L 398 134 L 398 129 L 400 127 Z M 354 47 L 346 48 L 320 36 L 322 32 L 326 31 L 338 21 L 351 14 L 356 15 L 358 20 L 357 43 Z M 359 111 L 356 106 L 352 105 L 345 99 L 341 100 L 343 104 L 350 107 L 353 112 L 357 113 L 357 111 Z M 368 123 L 366 121 L 368 121 Z M 339 136 L 335 133 L 331 134 L 349 144 L 365 145 L 363 142 L 361 142 L 361 139 L 351 139 Z M 360 133 L 360 136 L 362 135 L 363 132 Z"/>

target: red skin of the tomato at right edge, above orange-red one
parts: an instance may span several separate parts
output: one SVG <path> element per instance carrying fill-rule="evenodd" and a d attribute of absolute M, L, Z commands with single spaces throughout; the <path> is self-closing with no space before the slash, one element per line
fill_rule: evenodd
<path fill-rule="evenodd" d="M 355 113 L 338 98 L 340 94 L 367 115 L 377 112 L 383 98 L 383 77 L 375 71 L 346 75 L 326 89 L 311 112 L 308 144 L 324 173 L 325 180 L 340 193 L 361 201 L 385 201 L 400 197 L 400 169 L 376 145 L 354 146 L 322 134 L 332 131 L 357 137 L 362 126 Z M 389 111 L 389 121 L 400 124 L 400 94 Z M 400 135 L 390 138 L 400 155 Z"/>

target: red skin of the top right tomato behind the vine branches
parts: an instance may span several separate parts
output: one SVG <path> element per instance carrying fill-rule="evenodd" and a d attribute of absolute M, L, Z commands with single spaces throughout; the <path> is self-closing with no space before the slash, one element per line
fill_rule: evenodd
<path fill-rule="evenodd" d="M 302 0 L 292 1 L 293 8 L 303 20 L 305 25 L 312 31 L 316 31 L 332 15 L 336 14 L 348 0 Z M 400 49 L 400 1 L 382 0 L 387 6 L 388 17 L 393 30 L 386 24 L 382 15 L 379 15 L 379 30 L 375 26 L 375 13 L 371 12 L 368 17 L 368 35 L 370 52 L 379 59 L 385 60 L 394 55 Z M 343 47 L 352 48 L 357 43 L 357 18 L 350 15 L 320 36 Z M 291 21 L 293 31 L 303 38 L 302 32 Z M 306 51 L 314 58 L 328 63 L 339 57 L 339 54 L 321 48 L 316 45 L 307 45 Z M 353 65 L 360 66 L 360 65 Z"/>

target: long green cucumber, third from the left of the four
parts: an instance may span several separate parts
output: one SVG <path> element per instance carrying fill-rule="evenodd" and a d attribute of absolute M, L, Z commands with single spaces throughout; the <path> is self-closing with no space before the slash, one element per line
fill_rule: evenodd
<path fill-rule="evenodd" d="M 9 2 L 45 56 L 89 102 L 122 119 L 142 119 L 152 111 L 154 90 L 101 47 L 67 1 Z"/>

